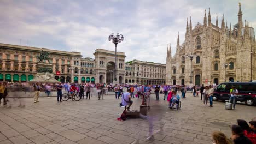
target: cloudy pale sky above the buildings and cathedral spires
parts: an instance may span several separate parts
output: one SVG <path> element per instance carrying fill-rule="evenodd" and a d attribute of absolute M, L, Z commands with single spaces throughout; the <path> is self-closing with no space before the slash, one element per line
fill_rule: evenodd
<path fill-rule="evenodd" d="M 110 33 L 121 33 L 118 51 L 126 61 L 166 63 L 167 44 L 174 55 L 177 34 L 184 40 L 187 17 L 203 23 L 211 8 L 212 23 L 224 14 L 237 23 L 237 0 L 1 0 L 0 43 L 77 51 L 93 57 L 98 48 L 114 51 Z M 243 20 L 256 28 L 256 1 L 241 0 Z"/>

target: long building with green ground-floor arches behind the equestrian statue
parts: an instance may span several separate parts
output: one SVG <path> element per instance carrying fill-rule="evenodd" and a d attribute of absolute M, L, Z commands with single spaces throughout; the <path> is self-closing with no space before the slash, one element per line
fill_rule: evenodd
<path fill-rule="evenodd" d="M 82 58 L 80 52 L 10 44 L 0 44 L 0 81 L 28 82 L 33 80 L 37 73 L 37 56 L 41 51 L 50 53 L 50 63 L 53 64 L 53 74 L 56 80 L 92 83 L 96 81 L 94 59 Z"/>

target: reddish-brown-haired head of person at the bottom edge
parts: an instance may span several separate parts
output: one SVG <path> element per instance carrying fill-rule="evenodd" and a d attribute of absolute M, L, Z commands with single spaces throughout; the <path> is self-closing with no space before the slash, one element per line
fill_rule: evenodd
<path fill-rule="evenodd" d="M 212 133 L 212 142 L 215 144 L 232 144 L 232 141 L 221 131 L 215 131 Z"/>

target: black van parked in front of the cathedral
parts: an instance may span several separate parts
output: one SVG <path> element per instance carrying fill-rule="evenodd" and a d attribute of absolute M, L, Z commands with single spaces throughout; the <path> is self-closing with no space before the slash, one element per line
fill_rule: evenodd
<path fill-rule="evenodd" d="M 229 100 L 230 89 L 235 86 L 238 90 L 237 101 L 245 102 L 246 105 L 256 104 L 256 82 L 224 82 L 220 83 L 213 93 L 213 100 Z"/>

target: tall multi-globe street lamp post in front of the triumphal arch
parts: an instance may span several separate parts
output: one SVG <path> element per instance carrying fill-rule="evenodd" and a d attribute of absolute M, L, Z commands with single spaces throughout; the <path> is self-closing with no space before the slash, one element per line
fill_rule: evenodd
<path fill-rule="evenodd" d="M 114 81 L 117 82 L 117 45 L 121 43 L 121 41 L 124 40 L 124 37 L 122 34 L 117 33 L 117 35 L 114 35 L 114 33 L 110 34 L 108 37 L 108 40 L 115 44 L 115 68 L 114 68 Z"/>

